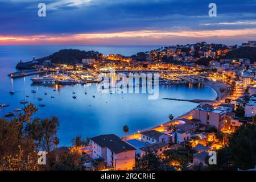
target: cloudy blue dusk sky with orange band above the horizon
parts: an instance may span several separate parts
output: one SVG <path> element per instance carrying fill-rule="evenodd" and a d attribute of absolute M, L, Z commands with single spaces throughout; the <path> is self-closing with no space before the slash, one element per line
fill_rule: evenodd
<path fill-rule="evenodd" d="M 39 3 L 46 17 L 38 16 Z M 217 16 L 210 17 L 209 3 Z M 256 0 L 0 0 L 0 45 L 148 45 L 256 40 Z"/>

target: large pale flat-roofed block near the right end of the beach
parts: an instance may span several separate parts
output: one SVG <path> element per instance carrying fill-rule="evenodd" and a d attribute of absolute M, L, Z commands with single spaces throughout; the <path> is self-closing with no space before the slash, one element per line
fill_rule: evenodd
<path fill-rule="evenodd" d="M 194 119 L 199 119 L 202 124 L 213 126 L 220 130 L 224 125 L 224 119 L 227 110 L 214 109 L 213 106 L 205 104 L 204 106 L 193 109 Z"/>

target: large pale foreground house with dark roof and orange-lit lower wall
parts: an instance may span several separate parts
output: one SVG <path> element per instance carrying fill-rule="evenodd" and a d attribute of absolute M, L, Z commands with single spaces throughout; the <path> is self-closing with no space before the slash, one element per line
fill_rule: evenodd
<path fill-rule="evenodd" d="M 91 140 L 93 159 L 103 158 L 108 167 L 116 170 L 133 169 L 136 149 L 117 135 L 100 135 Z"/>

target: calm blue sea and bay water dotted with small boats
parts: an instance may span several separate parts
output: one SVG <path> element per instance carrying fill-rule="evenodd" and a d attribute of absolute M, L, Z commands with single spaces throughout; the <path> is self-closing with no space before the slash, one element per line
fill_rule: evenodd
<path fill-rule="evenodd" d="M 57 86 L 33 85 L 28 76 L 11 80 L 9 73 L 16 71 L 18 60 L 31 60 L 32 56 L 47 56 L 62 48 L 78 48 L 94 50 L 108 55 L 121 53 L 133 55 L 139 51 L 149 51 L 156 46 L 0 46 L 0 104 L 10 104 L 0 111 L 0 117 L 18 107 L 25 96 L 39 107 L 38 117 L 55 115 L 60 121 L 60 146 L 70 145 L 71 139 L 81 134 L 83 137 L 94 137 L 99 134 L 117 134 L 123 137 L 122 126 L 128 125 L 130 134 L 138 130 L 148 129 L 168 121 L 168 115 L 178 117 L 196 107 L 191 102 L 163 100 L 164 97 L 183 99 L 216 98 L 216 93 L 202 85 L 171 85 L 159 88 L 158 100 L 148 100 L 147 94 L 100 94 L 96 84 Z M 10 89 L 15 94 L 10 95 Z M 32 94 L 31 90 L 37 90 Z M 56 92 L 53 92 L 56 89 Z M 77 99 L 72 98 L 76 92 Z M 85 94 L 87 92 L 87 94 Z M 44 93 L 48 93 L 47 96 Z M 54 96 L 55 98 L 51 98 Z M 96 96 L 93 98 L 92 96 Z M 42 101 L 38 101 L 42 97 Z"/>

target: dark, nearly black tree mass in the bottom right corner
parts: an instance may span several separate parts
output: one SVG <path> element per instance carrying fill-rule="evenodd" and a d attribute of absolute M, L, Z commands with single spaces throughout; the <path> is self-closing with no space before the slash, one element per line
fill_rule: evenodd
<path fill-rule="evenodd" d="M 256 125 L 244 124 L 229 138 L 228 146 L 217 151 L 217 165 L 210 169 L 251 169 L 256 164 Z"/>

